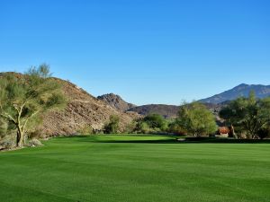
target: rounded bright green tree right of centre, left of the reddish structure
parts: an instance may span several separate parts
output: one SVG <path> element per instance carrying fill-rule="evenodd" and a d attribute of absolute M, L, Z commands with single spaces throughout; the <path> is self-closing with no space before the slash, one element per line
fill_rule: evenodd
<path fill-rule="evenodd" d="M 215 117 L 199 102 L 184 103 L 175 122 L 185 133 L 192 136 L 209 135 L 217 130 Z"/>

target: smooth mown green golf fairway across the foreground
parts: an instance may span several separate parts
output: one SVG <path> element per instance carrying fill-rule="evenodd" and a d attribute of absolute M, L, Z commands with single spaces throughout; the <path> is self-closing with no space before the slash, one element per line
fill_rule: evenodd
<path fill-rule="evenodd" d="M 59 137 L 0 153 L 0 201 L 270 201 L 269 144 Z"/>

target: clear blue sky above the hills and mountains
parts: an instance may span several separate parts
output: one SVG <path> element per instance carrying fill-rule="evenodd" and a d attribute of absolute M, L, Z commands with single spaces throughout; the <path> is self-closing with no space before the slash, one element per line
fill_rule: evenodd
<path fill-rule="evenodd" d="M 0 0 L 0 71 L 179 104 L 270 84 L 269 0 Z"/>

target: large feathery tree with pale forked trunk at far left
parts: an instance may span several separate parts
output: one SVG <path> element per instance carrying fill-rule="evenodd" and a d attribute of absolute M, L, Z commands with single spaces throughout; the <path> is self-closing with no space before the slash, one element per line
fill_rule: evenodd
<path fill-rule="evenodd" d="M 25 75 L 5 73 L 0 80 L 0 117 L 16 128 L 18 147 L 42 114 L 66 103 L 61 85 L 50 77 L 46 64 L 31 67 Z"/>

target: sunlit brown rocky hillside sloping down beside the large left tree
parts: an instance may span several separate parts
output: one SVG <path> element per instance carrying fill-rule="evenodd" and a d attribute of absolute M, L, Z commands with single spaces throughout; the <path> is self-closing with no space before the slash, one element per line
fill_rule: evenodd
<path fill-rule="evenodd" d="M 63 84 L 69 101 L 65 110 L 53 111 L 44 117 L 41 130 L 49 136 L 72 135 L 85 126 L 101 130 L 111 115 L 120 117 L 121 130 L 124 130 L 132 119 L 139 118 L 137 113 L 112 108 L 73 83 L 60 79 L 58 82 Z"/>

